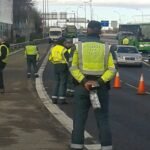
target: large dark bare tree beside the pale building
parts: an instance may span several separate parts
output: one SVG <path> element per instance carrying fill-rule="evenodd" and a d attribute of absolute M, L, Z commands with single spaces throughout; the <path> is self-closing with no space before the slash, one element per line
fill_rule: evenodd
<path fill-rule="evenodd" d="M 42 20 L 32 0 L 14 0 L 13 29 L 15 34 L 28 38 L 32 32 L 40 33 Z"/>

